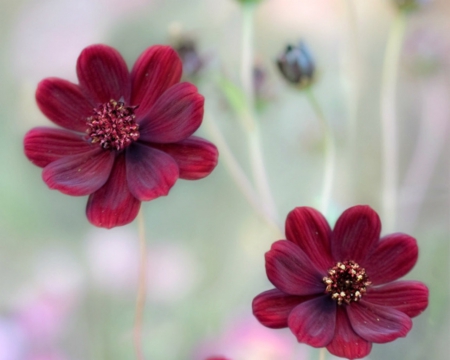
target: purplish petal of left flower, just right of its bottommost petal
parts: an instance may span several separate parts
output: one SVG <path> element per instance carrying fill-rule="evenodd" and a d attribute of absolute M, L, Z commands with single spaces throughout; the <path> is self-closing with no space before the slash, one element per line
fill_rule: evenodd
<path fill-rule="evenodd" d="M 168 154 L 139 143 L 126 151 L 127 182 L 141 201 L 165 196 L 178 179 L 178 165 Z"/>

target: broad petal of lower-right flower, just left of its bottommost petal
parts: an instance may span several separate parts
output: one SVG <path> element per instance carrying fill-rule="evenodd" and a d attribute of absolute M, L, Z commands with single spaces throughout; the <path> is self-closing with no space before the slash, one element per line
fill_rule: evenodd
<path fill-rule="evenodd" d="M 323 347 L 330 343 L 336 325 L 336 302 L 319 296 L 297 305 L 289 314 L 289 329 L 299 342 Z"/>

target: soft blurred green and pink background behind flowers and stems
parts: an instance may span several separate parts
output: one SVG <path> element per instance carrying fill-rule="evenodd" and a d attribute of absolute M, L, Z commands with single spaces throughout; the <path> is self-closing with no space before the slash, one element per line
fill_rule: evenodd
<path fill-rule="evenodd" d="M 198 134 L 214 141 L 213 122 L 250 174 L 247 137 L 223 86 L 240 86 L 239 3 L 1 0 L 0 6 L 0 360 L 133 359 L 137 225 L 94 229 L 84 215 L 86 198 L 43 183 L 22 145 L 27 130 L 50 125 L 35 104 L 36 85 L 50 76 L 76 81 L 76 59 L 93 43 L 116 47 L 131 66 L 152 44 L 192 39 L 204 65 L 191 78 L 206 98 Z M 258 121 L 281 223 L 295 206 L 318 205 L 324 154 L 317 118 L 304 95 L 280 77 L 276 57 L 303 39 L 319 69 L 313 91 L 338 146 L 330 221 L 355 204 L 381 211 L 380 79 L 396 11 L 388 0 L 260 3 Z M 374 345 L 373 360 L 448 359 L 449 19 L 448 0 L 408 17 L 396 102 L 396 230 L 418 239 L 419 262 L 407 278 L 429 286 L 430 305 L 407 338 Z M 251 315 L 253 297 L 272 287 L 264 253 L 278 238 L 222 159 L 209 177 L 178 181 L 169 196 L 144 203 L 143 211 L 148 359 L 318 358 L 288 330 L 265 329 Z"/>

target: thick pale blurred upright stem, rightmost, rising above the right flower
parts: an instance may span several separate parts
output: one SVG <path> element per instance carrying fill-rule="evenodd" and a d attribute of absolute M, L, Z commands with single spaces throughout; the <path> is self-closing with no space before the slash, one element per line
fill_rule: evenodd
<path fill-rule="evenodd" d="M 381 132 L 383 157 L 383 225 L 393 231 L 397 214 L 398 149 L 396 89 L 398 63 L 406 29 L 406 14 L 398 12 L 391 26 L 383 64 L 381 84 Z"/>

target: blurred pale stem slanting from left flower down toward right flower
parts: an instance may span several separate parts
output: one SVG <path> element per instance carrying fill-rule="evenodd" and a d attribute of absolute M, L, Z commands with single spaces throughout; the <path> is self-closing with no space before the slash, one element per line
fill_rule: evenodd
<path fill-rule="evenodd" d="M 206 131 L 208 131 L 211 136 L 213 142 L 220 149 L 220 158 L 224 161 L 225 166 L 228 169 L 231 177 L 236 183 L 239 190 L 241 190 L 242 194 L 245 196 L 250 205 L 255 209 L 255 211 L 274 229 L 278 232 L 281 232 L 279 225 L 275 222 L 275 219 L 272 218 L 272 214 L 266 211 L 263 208 L 258 200 L 258 197 L 253 190 L 252 184 L 247 178 L 247 175 L 242 170 L 239 165 L 236 157 L 233 155 L 230 147 L 228 146 L 225 138 L 223 137 L 220 129 L 215 123 L 212 116 L 208 116 L 205 114 L 204 126 Z"/>

